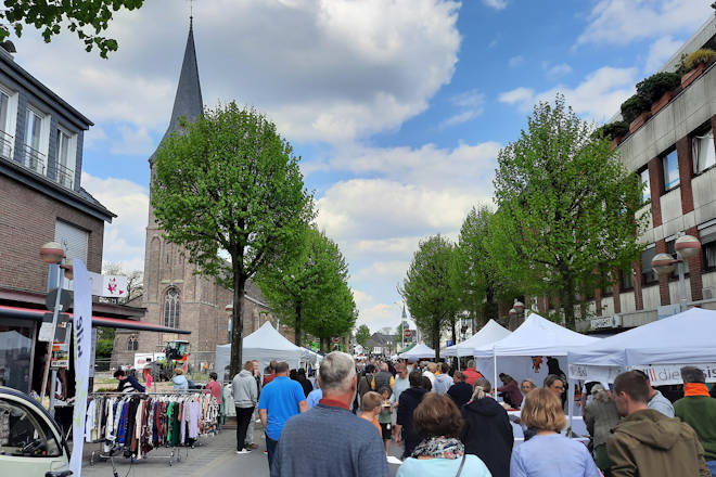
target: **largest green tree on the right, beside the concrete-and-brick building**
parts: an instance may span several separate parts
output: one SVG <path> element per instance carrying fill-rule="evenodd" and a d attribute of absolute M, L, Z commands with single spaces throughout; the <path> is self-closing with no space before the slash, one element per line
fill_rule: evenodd
<path fill-rule="evenodd" d="M 600 270 L 629 267 L 649 219 L 639 179 L 592 130 L 561 95 L 535 106 L 527 130 L 498 155 L 498 210 L 485 241 L 511 284 L 557 291 L 571 328 L 577 287 L 596 286 Z"/>

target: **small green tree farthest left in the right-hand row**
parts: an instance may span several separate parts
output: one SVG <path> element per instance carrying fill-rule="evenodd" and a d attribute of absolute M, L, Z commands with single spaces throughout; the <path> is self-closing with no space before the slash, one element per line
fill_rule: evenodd
<path fill-rule="evenodd" d="M 440 331 L 451 328 L 456 340 L 455 322 L 459 301 L 451 279 L 455 246 L 440 235 L 420 242 L 408 273 L 398 292 L 418 326 L 431 338 L 439 359 Z"/>

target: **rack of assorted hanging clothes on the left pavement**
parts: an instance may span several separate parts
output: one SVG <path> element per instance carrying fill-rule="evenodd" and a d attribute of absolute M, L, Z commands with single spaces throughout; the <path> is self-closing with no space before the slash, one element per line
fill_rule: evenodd
<path fill-rule="evenodd" d="M 135 462 L 166 459 L 171 465 L 175 459 L 181 462 L 180 447 L 184 447 L 188 459 L 189 448 L 196 444 L 201 435 L 217 426 L 218 404 L 205 389 L 181 392 L 106 391 L 92 392 L 90 398 L 100 408 L 91 407 L 92 402 L 88 407 L 86 438 L 88 442 L 101 444 L 91 453 L 90 465 L 94 465 L 95 457 L 112 459 L 117 455 L 131 457 Z M 144 403 L 137 404 L 138 400 Z M 162 447 L 169 449 L 168 455 L 153 452 Z"/>

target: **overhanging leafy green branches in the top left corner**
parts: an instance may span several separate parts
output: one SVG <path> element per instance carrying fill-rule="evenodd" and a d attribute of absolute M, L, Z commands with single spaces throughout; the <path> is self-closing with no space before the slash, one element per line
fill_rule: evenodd
<path fill-rule="evenodd" d="M 137 10 L 144 0 L 7 0 L 0 10 L 0 41 L 14 31 L 20 38 L 24 25 L 31 25 L 42 34 L 46 43 L 60 35 L 63 28 L 77 34 L 85 50 L 97 48 L 106 59 L 117 50 L 117 40 L 100 34 L 107 29 L 114 13 L 120 9 Z"/>

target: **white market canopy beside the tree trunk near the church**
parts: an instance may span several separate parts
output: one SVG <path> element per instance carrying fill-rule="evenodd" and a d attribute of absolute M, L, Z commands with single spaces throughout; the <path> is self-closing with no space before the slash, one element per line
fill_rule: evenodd
<path fill-rule="evenodd" d="M 257 360 L 259 371 L 269 365 L 271 360 L 285 361 L 291 369 L 301 366 L 302 361 L 315 362 L 316 353 L 294 345 L 281 335 L 270 322 L 266 322 L 243 341 L 243 361 Z M 231 362 L 231 345 L 216 347 L 216 371 L 219 377 Z M 242 363 L 243 365 L 243 363 Z M 233 376 L 230 376 L 231 378 Z"/>

